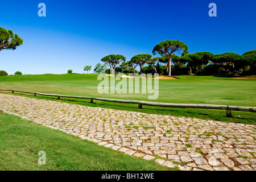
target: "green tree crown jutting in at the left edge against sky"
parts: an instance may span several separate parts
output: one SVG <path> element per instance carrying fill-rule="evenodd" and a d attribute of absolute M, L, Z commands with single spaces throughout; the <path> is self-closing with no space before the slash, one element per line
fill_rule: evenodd
<path fill-rule="evenodd" d="M 3 49 L 14 50 L 23 44 L 23 39 L 11 30 L 0 27 L 0 51 Z"/>

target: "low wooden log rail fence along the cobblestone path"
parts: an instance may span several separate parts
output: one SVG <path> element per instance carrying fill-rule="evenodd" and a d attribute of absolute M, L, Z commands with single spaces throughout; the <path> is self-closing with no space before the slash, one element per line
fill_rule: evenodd
<path fill-rule="evenodd" d="M 14 92 L 31 93 L 31 94 L 34 94 L 34 96 L 40 95 L 40 96 L 57 97 L 57 99 L 60 99 L 60 97 L 64 97 L 64 98 L 84 98 L 84 99 L 89 99 L 91 103 L 93 103 L 93 100 L 98 100 L 98 101 L 106 101 L 106 102 L 138 104 L 139 109 L 142 109 L 142 105 L 159 106 L 159 107 L 218 109 L 218 110 L 226 110 L 226 117 L 232 117 L 232 113 L 231 113 L 232 110 L 256 113 L 256 107 L 242 107 L 242 106 L 228 106 L 228 105 L 208 105 L 208 104 L 172 104 L 172 103 L 162 103 L 162 102 L 131 101 L 131 100 L 118 100 L 118 99 L 110 99 L 110 98 L 97 98 L 97 97 L 84 97 L 84 96 L 66 96 L 66 95 L 59 95 L 59 94 L 28 92 L 28 91 L 13 90 L 13 89 L 0 89 L 0 90 L 2 90 L 2 91 L 11 91 L 12 93 L 14 93 Z"/>

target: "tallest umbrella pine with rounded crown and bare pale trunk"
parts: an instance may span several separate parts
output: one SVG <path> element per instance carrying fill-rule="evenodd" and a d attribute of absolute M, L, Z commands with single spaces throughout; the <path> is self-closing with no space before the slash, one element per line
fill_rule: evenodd
<path fill-rule="evenodd" d="M 168 76 L 171 76 L 172 55 L 177 53 L 186 55 L 188 46 L 179 40 L 165 40 L 155 45 L 152 53 L 156 55 L 156 52 L 161 56 L 166 55 L 168 57 Z"/>

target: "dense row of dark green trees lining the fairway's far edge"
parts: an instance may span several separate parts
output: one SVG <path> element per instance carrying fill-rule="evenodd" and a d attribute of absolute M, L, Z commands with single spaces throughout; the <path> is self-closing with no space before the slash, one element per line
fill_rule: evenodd
<path fill-rule="evenodd" d="M 114 67 L 115 73 L 138 73 L 135 68 L 139 65 L 140 73 L 168 75 L 168 57 L 166 55 L 152 59 L 151 55 L 144 54 L 136 55 L 128 62 L 123 57 L 122 60 L 122 64 L 117 64 Z M 256 50 L 247 51 L 243 55 L 233 52 L 216 55 L 210 52 L 195 52 L 180 57 L 172 55 L 171 63 L 172 75 L 256 75 Z M 110 74 L 110 69 L 106 69 L 105 73 Z"/>

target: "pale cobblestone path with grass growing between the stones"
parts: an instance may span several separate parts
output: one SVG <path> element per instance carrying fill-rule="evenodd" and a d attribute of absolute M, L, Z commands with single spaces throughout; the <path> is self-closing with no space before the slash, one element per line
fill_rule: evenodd
<path fill-rule="evenodd" d="M 0 94 L 0 109 L 167 167 L 256 170 L 256 126 Z"/>

